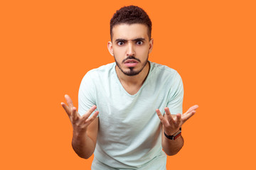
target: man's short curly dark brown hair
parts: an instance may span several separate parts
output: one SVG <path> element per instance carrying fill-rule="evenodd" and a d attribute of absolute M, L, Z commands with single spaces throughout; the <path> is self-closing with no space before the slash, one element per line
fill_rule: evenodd
<path fill-rule="evenodd" d="M 138 6 L 124 6 L 114 13 L 110 20 L 110 36 L 113 37 L 112 29 L 118 24 L 142 23 L 148 27 L 149 40 L 151 39 L 152 23 L 146 12 Z"/>

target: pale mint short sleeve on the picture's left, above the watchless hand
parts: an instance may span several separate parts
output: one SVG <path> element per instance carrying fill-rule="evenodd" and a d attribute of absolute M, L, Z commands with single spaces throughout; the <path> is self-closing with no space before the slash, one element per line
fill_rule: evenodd
<path fill-rule="evenodd" d="M 93 105 L 96 105 L 96 90 L 90 74 L 91 72 L 87 72 L 85 77 L 82 78 L 78 92 L 78 113 L 80 115 L 84 115 Z"/>

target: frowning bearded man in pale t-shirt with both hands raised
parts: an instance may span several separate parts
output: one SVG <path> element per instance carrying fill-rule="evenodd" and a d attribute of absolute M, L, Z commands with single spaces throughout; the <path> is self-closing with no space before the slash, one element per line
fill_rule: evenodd
<path fill-rule="evenodd" d="M 115 62 L 85 74 L 80 114 L 68 95 L 68 106 L 61 103 L 73 125 L 73 149 L 85 159 L 95 154 L 92 169 L 166 169 L 166 154 L 181 149 L 181 125 L 198 106 L 181 115 L 181 77 L 149 62 L 154 40 L 142 8 L 126 6 L 114 13 L 110 35 L 107 47 Z"/>

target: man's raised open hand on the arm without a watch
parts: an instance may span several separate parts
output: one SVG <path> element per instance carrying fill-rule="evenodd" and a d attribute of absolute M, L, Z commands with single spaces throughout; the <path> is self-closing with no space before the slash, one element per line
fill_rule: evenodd
<path fill-rule="evenodd" d="M 80 116 L 77 109 L 73 106 L 70 96 L 65 95 L 65 100 L 67 101 L 68 106 L 63 102 L 61 103 L 61 106 L 63 106 L 65 112 L 68 114 L 68 118 L 70 118 L 70 122 L 73 126 L 73 132 L 75 132 L 76 135 L 85 133 L 88 125 L 90 125 L 90 123 L 92 123 L 92 121 L 95 120 L 99 114 L 99 111 L 96 111 L 89 118 L 92 112 L 95 111 L 96 106 L 92 106 L 87 113 Z"/>

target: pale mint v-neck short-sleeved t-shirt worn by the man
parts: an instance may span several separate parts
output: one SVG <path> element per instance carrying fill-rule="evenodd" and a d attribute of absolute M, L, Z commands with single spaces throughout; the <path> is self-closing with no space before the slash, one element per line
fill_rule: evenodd
<path fill-rule="evenodd" d="M 162 114 L 165 107 L 171 114 L 182 113 L 183 83 L 174 69 L 149 64 L 149 74 L 134 95 L 120 83 L 116 63 L 92 69 L 82 79 L 78 112 L 83 115 L 93 105 L 99 111 L 92 169 L 166 169 L 156 108 Z"/>

